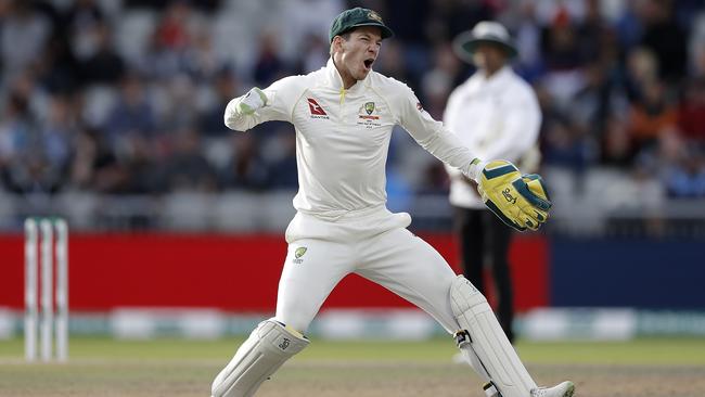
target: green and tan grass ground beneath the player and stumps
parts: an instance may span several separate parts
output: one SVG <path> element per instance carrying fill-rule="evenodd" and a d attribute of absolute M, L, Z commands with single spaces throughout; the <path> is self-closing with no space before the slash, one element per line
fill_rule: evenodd
<path fill-rule="evenodd" d="M 74 338 L 67 363 L 27 364 L 22 340 L 0 342 L 0 396 L 208 396 L 241 340 Z M 539 383 L 576 382 L 577 396 L 703 396 L 705 340 L 528 343 L 517 350 Z M 449 340 L 313 340 L 258 396 L 483 396 Z"/>

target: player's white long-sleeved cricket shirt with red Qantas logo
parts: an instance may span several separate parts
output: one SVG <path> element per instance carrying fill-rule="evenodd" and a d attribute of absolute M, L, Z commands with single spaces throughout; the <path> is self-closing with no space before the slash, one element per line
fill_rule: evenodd
<path fill-rule="evenodd" d="M 268 104 L 253 116 L 234 112 L 242 97 L 230 101 L 226 125 L 245 131 L 267 120 L 292 123 L 299 184 L 294 207 L 320 219 L 384 207 L 385 163 L 395 125 L 463 174 L 475 157 L 423 110 L 409 87 L 375 72 L 344 90 L 329 60 L 325 67 L 278 80 L 264 92 Z"/>

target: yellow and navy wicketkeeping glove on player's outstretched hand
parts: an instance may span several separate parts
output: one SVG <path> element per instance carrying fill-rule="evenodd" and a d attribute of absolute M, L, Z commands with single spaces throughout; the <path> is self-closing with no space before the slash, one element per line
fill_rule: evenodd
<path fill-rule="evenodd" d="M 504 223 L 518 230 L 537 230 L 546 223 L 551 200 L 536 174 L 522 175 L 510 162 L 489 162 L 477 178 L 485 205 Z"/>

